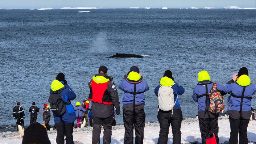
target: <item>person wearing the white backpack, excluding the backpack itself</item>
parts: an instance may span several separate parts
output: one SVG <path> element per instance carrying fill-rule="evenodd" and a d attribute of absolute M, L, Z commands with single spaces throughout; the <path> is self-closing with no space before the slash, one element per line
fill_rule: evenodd
<path fill-rule="evenodd" d="M 164 76 L 160 80 L 160 84 L 162 86 L 172 86 L 175 105 L 173 107 L 173 110 L 164 111 L 159 109 L 158 111 L 157 119 L 160 124 L 160 132 L 157 142 L 158 144 L 167 144 L 170 125 L 172 126 L 173 132 L 173 144 L 181 144 L 181 122 L 183 118 L 181 106 L 179 104 L 177 95 L 182 95 L 185 92 L 185 89 L 173 81 L 174 78 L 172 75 L 173 73 L 170 70 L 167 70 L 165 71 Z M 158 85 L 154 90 L 156 96 L 158 96 L 159 88 L 160 85 Z"/>

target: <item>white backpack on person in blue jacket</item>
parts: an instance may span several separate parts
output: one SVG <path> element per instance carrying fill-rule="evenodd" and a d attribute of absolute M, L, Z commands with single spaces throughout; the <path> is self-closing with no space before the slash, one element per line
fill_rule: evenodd
<path fill-rule="evenodd" d="M 175 83 L 172 84 L 172 86 Z M 163 111 L 172 110 L 175 103 L 174 103 L 174 94 L 172 86 L 160 86 L 158 90 L 158 111 L 159 109 Z"/>

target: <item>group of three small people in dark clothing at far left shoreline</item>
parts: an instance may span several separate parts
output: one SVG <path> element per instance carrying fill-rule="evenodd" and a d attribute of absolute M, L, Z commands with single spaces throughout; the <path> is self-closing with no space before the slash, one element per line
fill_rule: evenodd
<path fill-rule="evenodd" d="M 45 103 L 43 108 L 43 120 L 45 121 L 45 127 L 47 130 L 50 130 L 51 126 L 49 125 L 51 114 L 50 114 L 50 106 Z M 32 106 L 29 107 L 30 113 L 30 124 L 37 122 L 37 113 L 39 112 L 40 108 L 36 106 L 35 102 L 32 102 Z M 17 102 L 17 105 L 13 107 L 13 119 L 16 120 L 16 125 L 21 124 L 24 127 L 24 118 L 25 113 L 24 109 L 21 107 L 21 103 Z M 18 128 L 18 127 L 17 127 Z"/>

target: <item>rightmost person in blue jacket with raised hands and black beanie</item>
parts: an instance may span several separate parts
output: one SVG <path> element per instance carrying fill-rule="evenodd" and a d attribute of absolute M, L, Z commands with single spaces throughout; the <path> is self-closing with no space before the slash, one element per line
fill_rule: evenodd
<path fill-rule="evenodd" d="M 229 144 L 248 144 L 247 127 L 252 115 L 251 99 L 256 93 L 255 85 L 251 83 L 248 69 L 239 69 L 223 88 L 223 91 L 230 93 L 228 97 L 228 115 L 230 121 Z"/>

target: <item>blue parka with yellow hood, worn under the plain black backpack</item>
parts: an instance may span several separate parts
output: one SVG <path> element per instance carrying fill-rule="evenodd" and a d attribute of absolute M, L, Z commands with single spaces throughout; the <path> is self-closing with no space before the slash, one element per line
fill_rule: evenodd
<path fill-rule="evenodd" d="M 51 84 L 51 90 L 56 91 L 64 87 L 64 82 L 63 81 L 58 81 L 54 80 Z M 62 98 L 63 102 L 67 102 L 67 100 L 72 101 L 74 100 L 77 96 L 73 92 L 73 90 L 70 88 L 68 84 L 65 85 L 66 89 L 63 89 L 62 92 L 60 93 L 60 96 Z M 66 113 L 63 115 L 55 115 L 53 114 L 54 117 L 54 122 L 59 123 L 59 122 L 65 122 L 65 123 L 72 123 L 75 121 L 75 110 L 74 107 L 71 103 L 69 103 L 66 106 Z"/>

